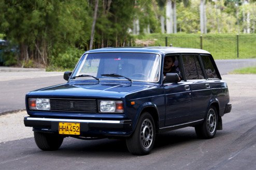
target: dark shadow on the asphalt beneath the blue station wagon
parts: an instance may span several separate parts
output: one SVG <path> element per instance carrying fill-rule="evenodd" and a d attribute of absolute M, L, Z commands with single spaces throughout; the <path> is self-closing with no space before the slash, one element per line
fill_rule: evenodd
<path fill-rule="evenodd" d="M 172 147 L 183 145 L 191 141 L 197 141 L 198 138 L 191 129 L 180 129 L 157 134 L 153 151 L 160 149 L 171 149 Z M 111 156 L 132 156 L 126 147 L 125 140 L 117 139 L 101 139 L 101 140 L 78 140 L 76 138 L 67 137 L 64 139 L 62 146 L 57 151 L 49 151 L 59 156 L 74 156 L 83 157 L 90 155 L 109 157 Z M 48 153 L 45 152 L 46 154 Z"/>

